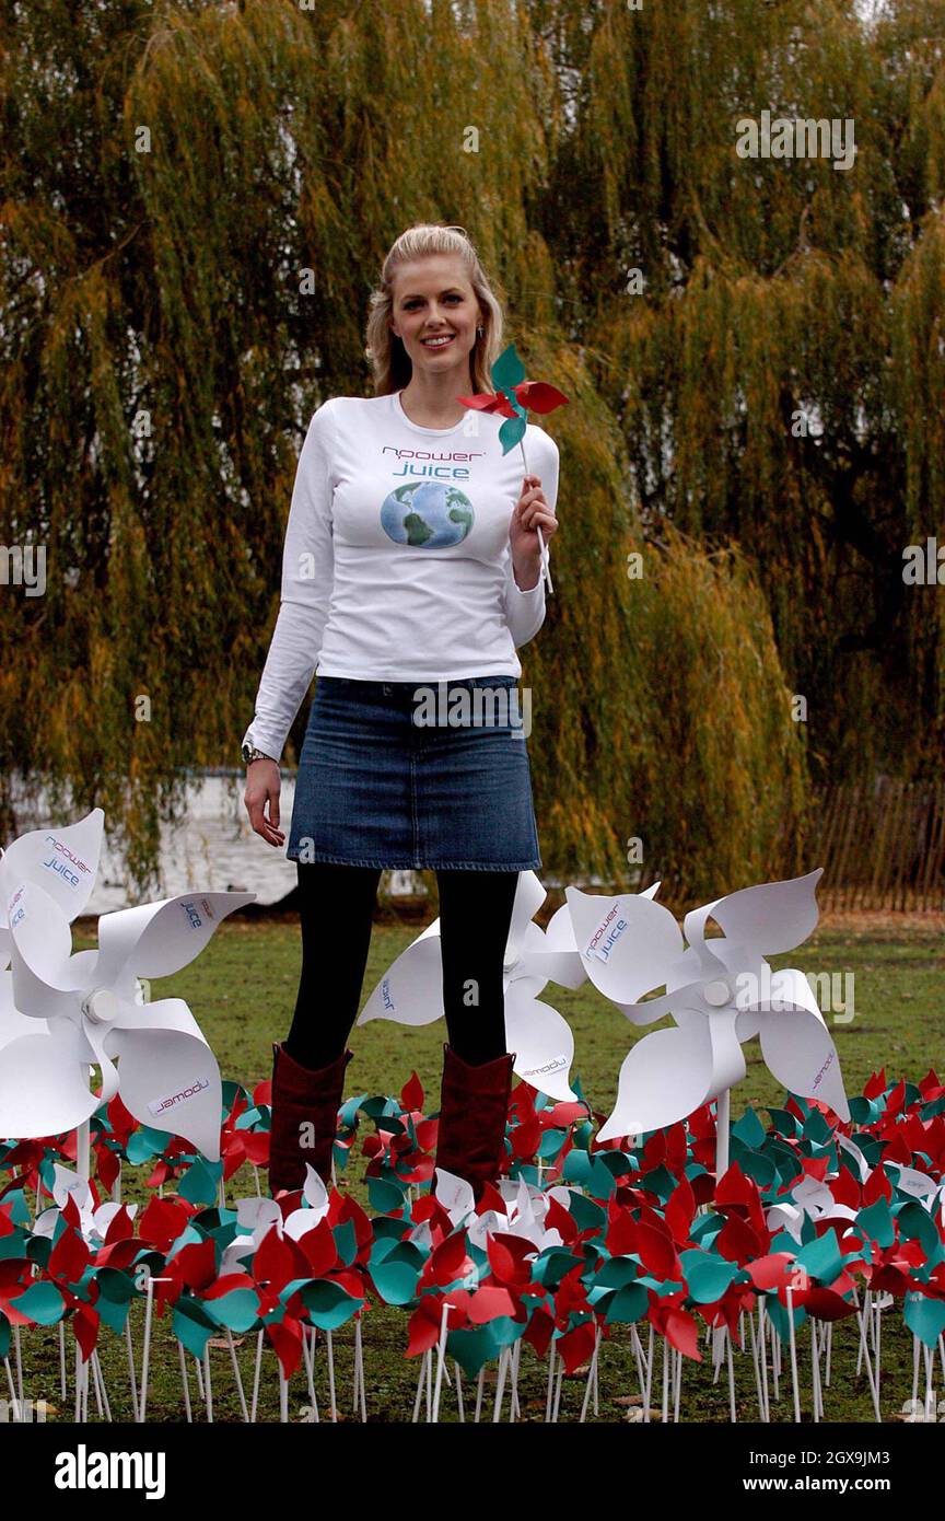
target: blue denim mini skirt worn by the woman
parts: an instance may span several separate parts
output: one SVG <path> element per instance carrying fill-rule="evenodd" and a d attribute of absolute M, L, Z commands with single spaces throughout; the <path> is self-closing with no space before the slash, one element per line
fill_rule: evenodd
<path fill-rule="evenodd" d="M 538 870 L 517 678 L 319 675 L 286 855 L 401 870 Z"/>

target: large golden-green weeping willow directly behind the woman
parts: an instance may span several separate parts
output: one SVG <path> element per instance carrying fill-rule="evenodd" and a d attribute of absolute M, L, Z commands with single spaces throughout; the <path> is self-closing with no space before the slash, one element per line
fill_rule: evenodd
<path fill-rule="evenodd" d="M 766 545 L 782 552 L 813 510 L 799 465 L 764 497 L 782 455 L 751 313 L 775 277 L 749 254 L 770 230 L 751 195 L 726 210 L 728 160 L 716 198 L 705 186 L 697 218 L 682 211 L 696 94 L 655 138 L 635 117 L 647 81 L 653 114 L 668 106 L 670 21 L 691 50 L 699 8 L 653 8 L 646 46 L 623 9 L 0 5 L 0 528 L 47 563 L 43 596 L 2 587 L 8 827 L 14 773 L 61 806 L 100 803 L 131 882 L 150 885 L 182 768 L 234 759 L 252 710 L 307 420 L 369 392 L 380 259 L 406 225 L 445 221 L 474 237 L 529 367 L 573 399 L 553 420 L 556 596 L 524 651 L 545 867 L 621 879 L 641 840 L 647 879 L 687 896 L 798 865 L 807 745 L 775 627 L 789 666 L 816 630 L 784 622 Z M 751 50 L 754 8 L 719 9 Z M 697 228 L 729 211 L 746 221 L 732 248 L 719 233 L 699 252 Z M 640 307 L 615 291 L 627 254 L 661 269 Z M 793 283 L 813 310 L 811 281 Z M 719 342 L 734 312 L 744 374 Z M 922 333 L 905 313 L 899 332 L 915 368 Z M 858 342 L 874 364 L 871 332 Z M 729 389 L 706 397 L 719 376 Z M 811 554 L 792 584 L 822 598 Z"/>

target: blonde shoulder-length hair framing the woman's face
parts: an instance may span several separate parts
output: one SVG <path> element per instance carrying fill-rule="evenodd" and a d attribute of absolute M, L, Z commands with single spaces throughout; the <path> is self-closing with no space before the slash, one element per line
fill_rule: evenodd
<path fill-rule="evenodd" d="M 368 316 L 365 353 L 374 371 L 374 389 L 377 395 L 389 395 L 406 386 L 413 374 L 413 364 L 403 339 L 390 332 L 390 316 L 393 312 L 393 275 L 401 265 L 412 259 L 424 259 L 427 254 L 459 254 L 463 263 L 466 280 L 472 286 L 479 301 L 482 316 L 482 335 L 477 333 L 469 353 L 469 370 L 472 373 L 474 391 L 492 389 L 492 364 L 498 356 L 501 344 L 503 313 L 486 280 L 485 269 L 479 262 L 479 254 L 466 236 L 463 227 L 445 227 L 439 222 L 418 222 L 409 227 L 390 245 L 384 263 L 381 265 L 380 286 L 371 292 L 371 313 Z"/>

